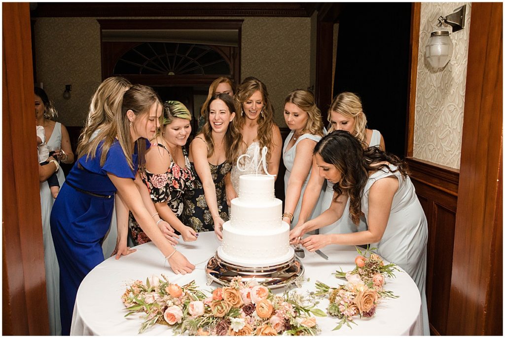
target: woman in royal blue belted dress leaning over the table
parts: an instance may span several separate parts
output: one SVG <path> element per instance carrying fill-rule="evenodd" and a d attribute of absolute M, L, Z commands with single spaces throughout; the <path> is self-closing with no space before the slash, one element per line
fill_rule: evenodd
<path fill-rule="evenodd" d="M 107 126 L 84 147 L 63 184 L 51 213 L 51 232 L 60 264 L 60 309 L 62 334 L 70 333 L 77 289 L 86 274 L 104 261 L 101 247 L 114 205 L 114 195 L 124 205 L 116 206 L 118 213 L 118 255 L 131 252 L 126 245 L 127 223 L 131 210 L 142 230 L 153 240 L 178 274 L 194 269 L 181 253 L 172 247 L 154 218 L 145 208 L 134 182 L 138 178 L 138 138 L 152 138 L 159 125 L 162 105 L 153 89 L 135 85 L 123 95 L 121 112 L 115 123 Z M 148 143 L 148 142 L 146 142 Z M 147 144 L 148 146 L 148 144 Z M 137 156 L 138 155 L 138 156 Z M 121 225 L 121 228 L 119 228 Z"/>

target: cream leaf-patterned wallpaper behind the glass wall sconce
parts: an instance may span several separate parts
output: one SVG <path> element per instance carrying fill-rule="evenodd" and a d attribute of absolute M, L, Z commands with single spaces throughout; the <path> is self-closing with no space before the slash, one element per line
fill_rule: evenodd
<path fill-rule="evenodd" d="M 454 44 L 452 57 L 443 69 L 434 71 L 424 57 L 430 33 L 439 16 L 462 5 L 467 5 L 465 28 L 450 34 Z M 470 13 L 471 3 L 421 4 L 414 157 L 457 169 L 461 159 Z"/>

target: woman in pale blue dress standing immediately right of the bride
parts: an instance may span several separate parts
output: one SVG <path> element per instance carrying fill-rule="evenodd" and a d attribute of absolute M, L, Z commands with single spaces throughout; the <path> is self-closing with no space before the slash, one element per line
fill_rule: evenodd
<path fill-rule="evenodd" d="M 287 95 L 284 103 L 284 120 L 291 132 L 284 142 L 282 158 L 286 166 L 284 175 L 283 221 L 295 225 L 301 208 L 301 199 L 312 172 L 317 171 L 312 156 L 316 143 L 324 136 L 321 111 L 317 108 L 314 95 L 307 90 L 294 90 Z M 314 169 L 314 171 L 313 171 Z M 321 213 L 319 206 L 314 208 L 310 218 Z"/>

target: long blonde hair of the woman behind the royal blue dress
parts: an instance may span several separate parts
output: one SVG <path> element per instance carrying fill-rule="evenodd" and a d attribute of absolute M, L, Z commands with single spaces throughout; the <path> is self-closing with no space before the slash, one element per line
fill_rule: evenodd
<path fill-rule="evenodd" d="M 83 154 L 83 149 L 96 130 L 102 134 L 97 135 L 98 138 L 103 138 L 105 134 L 111 132 L 111 127 L 114 128 L 111 126 L 114 124 L 114 116 L 121 110 L 123 94 L 130 87 L 130 81 L 118 76 L 109 77 L 100 83 L 91 97 L 88 117 L 77 143 L 77 154 Z M 94 153 L 96 148 L 88 151 Z"/>

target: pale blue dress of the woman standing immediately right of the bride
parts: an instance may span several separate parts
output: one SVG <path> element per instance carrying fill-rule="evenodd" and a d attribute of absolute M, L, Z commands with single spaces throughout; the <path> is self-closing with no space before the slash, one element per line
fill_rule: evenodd
<path fill-rule="evenodd" d="M 319 142 L 319 140 L 322 138 L 322 136 L 319 135 L 303 134 L 295 141 L 293 147 L 291 147 L 288 151 L 286 151 L 287 144 L 289 143 L 289 141 L 291 141 L 293 135 L 294 131 L 291 130 L 291 132 L 287 135 L 286 140 L 284 141 L 284 148 L 282 149 L 282 160 L 284 161 L 284 166 L 286 167 L 286 173 L 284 174 L 284 194 L 286 194 L 289 177 L 291 176 L 291 171 L 293 170 L 294 157 L 296 155 L 296 146 L 298 142 L 306 138 Z M 296 225 L 296 223 L 298 223 L 298 216 L 300 215 L 301 210 L 301 200 L 304 197 L 304 191 L 311 177 L 311 172 L 312 168 L 311 171 L 309 171 L 309 174 L 307 175 L 304 184 L 301 186 L 300 198 L 298 199 L 298 203 L 296 204 L 296 208 L 293 212 L 293 220 L 291 222 L 291 228 L 293 228 Z M 318 202 L 316 203 L 316 206 L 314 207 L 314 210 L 312 211 L 312 214 L 309 217 L 309 219 L 313 219 L 321 214 L 322 200 L 323 200 L 323 190 L 321 190 L 321 194 L 319 194 Z"/>

